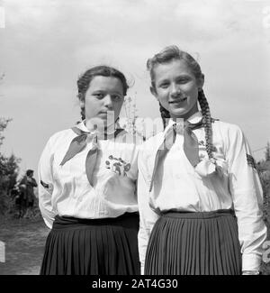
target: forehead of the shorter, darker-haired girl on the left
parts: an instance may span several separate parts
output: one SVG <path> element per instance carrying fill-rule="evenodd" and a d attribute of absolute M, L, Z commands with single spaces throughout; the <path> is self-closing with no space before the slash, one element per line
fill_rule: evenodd
<path fill-rule="evenodd" d="M 120 78 L 95 76 L 89 85 L 91 90 L 112 90 L 122 93 L 123 86 Z"/>

